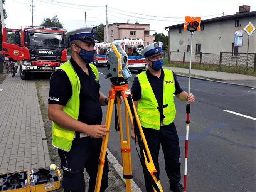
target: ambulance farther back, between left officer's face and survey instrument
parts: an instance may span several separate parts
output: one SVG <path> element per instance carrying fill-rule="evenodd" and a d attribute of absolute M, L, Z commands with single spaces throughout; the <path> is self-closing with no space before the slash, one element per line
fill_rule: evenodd
<path fill-rule="evenodd" d="M 95 55 L 93 59 L 93 64 L 96 66 L 107 65 L 108 66 L 108 55 L 106 54 L 107 50 L 110 49 L 109 43 L 95 43 L 94 46 Z"/>

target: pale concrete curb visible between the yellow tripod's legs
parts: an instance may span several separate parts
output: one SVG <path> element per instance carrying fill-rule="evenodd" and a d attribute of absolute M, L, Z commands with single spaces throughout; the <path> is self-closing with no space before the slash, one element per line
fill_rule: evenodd
<path fill-rule="evenodd" d="M 113 165 L 113 167 L 116 170 L 116 172 L 118 173 L 119 177 L 125 183 L 125 179 L 123 178 L 123 167 L 122 167 L 122 165 L 120 165 L 118 163 L 118 160 L 116 160 L 116 158 L 114 157 L 114 155 L 112 155 L 112 153 L 108 150 L 108 148 L 107 148 L 107 153 L 108 153 L 107 157 L 108 157 L 109 162 Z M 133 181 L 133 179 L 131 179 L 131 191 L 132 192 L 141 192 L 140 188 Z"/>

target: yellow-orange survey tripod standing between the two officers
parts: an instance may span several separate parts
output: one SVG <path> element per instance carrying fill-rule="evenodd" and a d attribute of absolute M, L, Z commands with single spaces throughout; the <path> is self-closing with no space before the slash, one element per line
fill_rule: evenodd
<path fill-rule="evenodd" d="M 123 140 L 123 127 L 122 127 L 122 118 L 121 118 L 121 103 L 120 99 L 117 99 L 117 106 L 118 106 L 118 120 L 120 125 L 120 142 L 121 142 L 121 154 L 122 154 L 122 162 L 123 162 L 123 177 L 126 181 L 126 191 L 131 192 L 131 178 L 132 178 L 132 170 L 131 170 L 131 147 L 130 147 L 130 134 L 129 134 L 129 121 L 128 121 L 128 115 L 130 117 L 131 123 L 133 124 L 133 115 L 135 115 L 136 122 L 138 124 L 138 128 L 140 131 L 141 139 L 143 141 L 143 144 L 145 146 L 145 150 L 143 151 L 144 158 L 145 158 L 145 164 L 150 172 L 151 176 L 153 177 L 158 189 L 154 191 L 163 191 L 162 186 L 160 184 L 160 180 L 157 180 L 155 173 L 157 172 L 152 160 L 152 157 L 150 155 L 150 151 L 148 149 L 147 141 L 144 136 L 143 130 L 140 125 L 140 121 L 135 109 L 135 106 L 133 104 L 133 111 L 131 111 L 129 102 L 128 102 L 128 96 L 131 96 L 130 89 L 128 89 L 127 82 L 122 85 L 113 85 L 111 86 L 111 89 L 109 91 L 109 101 L 108 101 L 108 110 L 106 115 L 106 121 L 105 125 L 107 125 L 107 129 L 110 129 L 110 123 L 111 123 L 111 117 L 112 117 L 112 111 L 113 106 L 115 102 L 115 98 L 122 97 L 125 104 L 125 125 L 126 125 L 126 139 L 127 141 Z M 101 153 L 99 157 L 99 166 L 98 166 L 98 172 L 97 172 L 97 179 L 96 179 L 96 185 L 94 192 L 99 192 L 101 187 L 101 179 L 103 174 L 103 167 L 105 163 L 105 157 L 106 157 L 106 148 L 108 145 L 108 137 L 109 132 L 106 133 L 106 135 L 103 137 L 102 145 L 101 145 Z M 147 153 L 147 156 L 146 156 Z M 146 158 L 148 157 L 148 158 Z"/>

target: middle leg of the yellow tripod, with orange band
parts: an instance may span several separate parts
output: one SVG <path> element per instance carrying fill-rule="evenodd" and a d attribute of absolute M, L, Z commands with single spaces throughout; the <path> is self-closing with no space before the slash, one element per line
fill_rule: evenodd
<path fill-rule="evenodd" d="M 126 192 L 131 192 L 132 171 L 131 171 L 131 147 L 130 147 L 130 140 L 129 140 L 130 139 L 129 127 L 128 127 L 127 141 L 124 141 L 120 99 L 117 99 L 117 106 L 118 106 L 118 119 L 119 119 L 119 126 L 120 126 L 120 143 L 121 143 L 121 154 L 122 154 L 122 162 L 123 162 L 123 178 L 125 179 L 125 183 L 126 183 Z M 127 121 L 126 121 L 126 134 L 127 134 Z"/>

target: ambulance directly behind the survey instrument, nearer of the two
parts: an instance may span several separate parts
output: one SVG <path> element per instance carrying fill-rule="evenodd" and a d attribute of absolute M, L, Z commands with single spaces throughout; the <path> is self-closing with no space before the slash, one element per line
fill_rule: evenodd
<path fill-rule="evenodd" d="M 146 68 L 145 56 L 141 54 L 144 49 L 143 39 L 115 39 L 112 44 L 119 44 L 128 55 L 128 68 L 142 72 Z"/>

